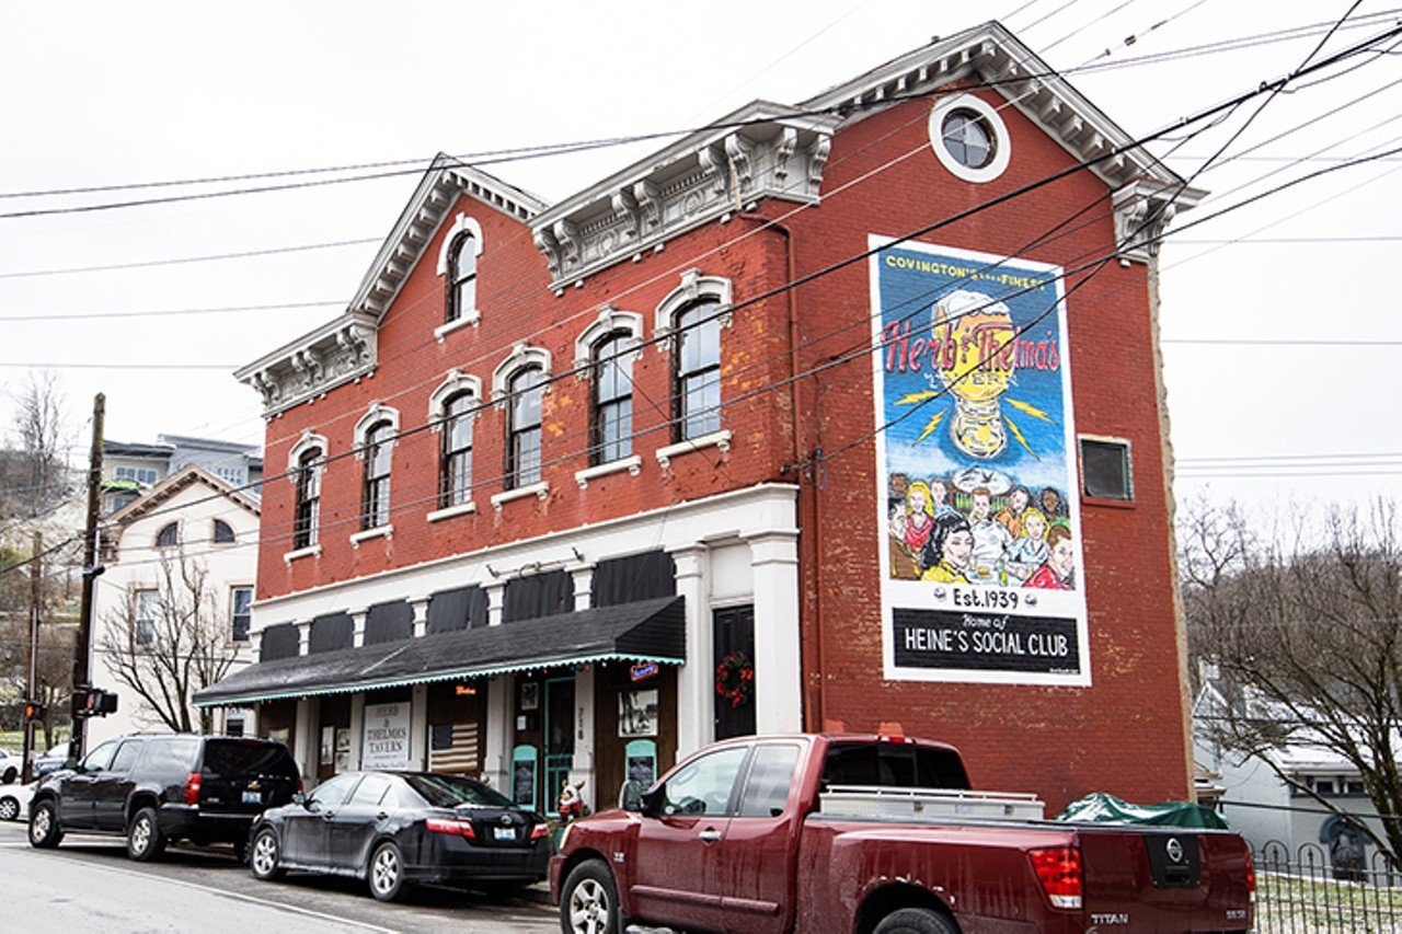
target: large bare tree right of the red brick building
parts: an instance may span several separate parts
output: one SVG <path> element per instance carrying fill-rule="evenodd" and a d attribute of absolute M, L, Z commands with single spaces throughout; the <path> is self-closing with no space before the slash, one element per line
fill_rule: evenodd
<path fill-rule="evenodd" d="M 1297 516 L 1258 534 L 1235 506 L 1180 520 L 1189 648 L 1218 675 L 1207 724 L 1225 749 L 1340 813 L 1402 868 L 1402 541 L 1398 506 Z M 1357 769 L 1381 833 L 1315 794 L 1272 753 L 1326 749 Z"/>

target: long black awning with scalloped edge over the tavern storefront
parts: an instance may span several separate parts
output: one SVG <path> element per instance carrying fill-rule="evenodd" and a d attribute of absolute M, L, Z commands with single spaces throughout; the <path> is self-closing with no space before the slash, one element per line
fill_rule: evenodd
<path fill-rule="evenodd" d="M 198 707 L 488 677 L 610 659 L 686 663 L 680 596 L 576 610 L 401 642 L 258 662 L 195 694 Z"/>

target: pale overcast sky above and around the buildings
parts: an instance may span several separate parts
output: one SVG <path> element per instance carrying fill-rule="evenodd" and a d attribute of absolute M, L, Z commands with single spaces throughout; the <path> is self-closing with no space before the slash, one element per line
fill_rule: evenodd
<path fill-rule="evenodd" d="M 754 98 L 795 102 L 990 15 L 1137 136 L 1291 72 L 1323 38 L 1325 27 L 1304 27 L 1332 22 L 1350 4 L 485 7 L 10 6 L 0 34 L 0 383 L 13 388 L 27 367 L 52 367 L 80 456 L 98 391 L 112 439 L 261 443 L 259 398 L 231 370 L 343 309 L 437 151 L 686 129 Z M 1361 3 L 1325 53 L 1396 22 L 1388 6 Z M 1176 226 L 1402 144 L 1399 81 L 1394 52 L 1276 95 L 1223 154 L 1228 161 L 1195 180 L 1213 196 Z M 1193 175 L 1263 100 L 1154 150 Z M 659 144 L 481 164 L 557 201 Z M 394 172 L 373 181 L 13 216 L 331 175 L 20 196 L 28 192 L 387 160 L 421 161 L 338 175 Z M 1402 353 L 1391 278 L 1399 168 L 1399 157 L 1338 168 L 1165 245 L 1162 337 L 1180 496 L 1210 484 L 1218 498 L 1274 506 L 1402 488 L 1391 379 Z M 171 262 L 261 251 L 278 252 Z M 114 265 L 128 268 L 94 269 Z M 247 310 L 257 306 L 278 307 Z M 4 424 L 11 408 L 0 394 Z"/>

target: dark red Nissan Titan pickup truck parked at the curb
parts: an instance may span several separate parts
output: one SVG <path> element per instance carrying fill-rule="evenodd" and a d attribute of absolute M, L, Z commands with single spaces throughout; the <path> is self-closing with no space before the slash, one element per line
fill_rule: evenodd
<path fill-rule="evenodd" d="M 550 867 L 566 933 L 1246 931 L 1255 875 L 1223 830 L 1036 819 L 959 752 L 900 736 L 747 736 L 569 826 Z M 1032 819 L 1029 819 L 1032 818 Z"/>

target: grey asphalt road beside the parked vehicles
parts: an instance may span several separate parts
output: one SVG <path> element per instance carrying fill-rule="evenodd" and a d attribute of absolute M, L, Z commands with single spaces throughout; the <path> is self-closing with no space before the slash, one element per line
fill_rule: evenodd
<path fill-rule="evenodd" d="M 172 848 L 132 862 L 123 840 L 69 834 L 35 850 L 21 822 L 0 822 L 0 928 L 49 931 L 558 931 L 555 909 L 530 898 L 489 899 L 422 888 L 376 902 L 358 879 L 292 875 L 258 882 L 229 850 Z"/>

